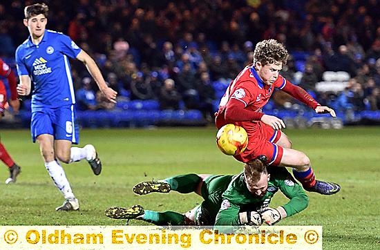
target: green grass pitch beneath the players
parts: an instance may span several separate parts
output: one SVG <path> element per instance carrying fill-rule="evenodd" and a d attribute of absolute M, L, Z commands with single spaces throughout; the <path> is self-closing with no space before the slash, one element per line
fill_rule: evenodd
<path fill-rule="evenodd" d="M 323 249 L 380 249 L 380 127 L 342 130 L 289 130 L 294 148 L 312 160 L 316 176 L 338 182 L 340 193 L 308 193 L 310 205 L 280 225 L 322 225 Z M 27 130 L 2 130 L 1 141 L 22 173 L 6 185 L 8 169 L 0 168 L 1 225 L 124 225 L 104 215 L 108 206 L 141 204 L 151 210 L 185 212 L 201 200 L 195 194 L 138 196 L 132 187 L 180 173 L 238 173 L 240 162 L 223 155 L 215 128 L 83 130 L 79 146 L 97 147 L 103 171 L 93 175 L 87 162 L 65 165 L 80 211 L 56 212 L 63 202 L 44 167 L 37 144 Z M 278 194 L 272 206 L 287 199 Z M 132 221 L 131 224 L 144 224 Z"/>

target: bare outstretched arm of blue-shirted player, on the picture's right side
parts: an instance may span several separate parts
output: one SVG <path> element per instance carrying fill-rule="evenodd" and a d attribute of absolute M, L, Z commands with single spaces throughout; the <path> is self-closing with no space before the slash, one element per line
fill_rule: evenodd
<path fill-rule="evenodd" d="M 79 52 L 79 54 L 77 55 L 77 59 L 84 63 L 88 72 L 95 79 L 95 82 L 99 87 L 99 90 L 102 91 L 108 102 L 116 103 L 117 92 L 107 86 L 106 81 L 104 81 L 102 73 L 97 67 L 94 59 L 90 57 L 86 52 L 84 52 L 84 50 Z"/>

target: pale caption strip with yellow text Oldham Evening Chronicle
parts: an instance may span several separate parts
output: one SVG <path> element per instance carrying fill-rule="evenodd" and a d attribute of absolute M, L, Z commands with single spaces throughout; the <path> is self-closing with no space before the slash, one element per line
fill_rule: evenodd
<path fill-rule="evenodd" d="M 322 227 L 2 226 L 0 249 L 322 249 Z"/>

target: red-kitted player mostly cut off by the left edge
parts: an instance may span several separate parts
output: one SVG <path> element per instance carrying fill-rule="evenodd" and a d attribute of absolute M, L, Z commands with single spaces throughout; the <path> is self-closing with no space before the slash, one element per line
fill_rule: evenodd
<path fill-rule="evenodd" d="M 17 79 L 15 77 L 15 73 L 13 73 L 13 70 L 6 64 L 1 58 L 0 58 L 0 76 L 6 77 L 8 79 L 8 84 L 10 88 L 10 106 L 13 108 L 14 113 L 19 112 L 20 102 L 19 99 L 17 99 Z M 4 85 L 3 81 L 0 79 L 0 119 L 4 115 L 4 110 L 8 108 L 8 98 L 6 93 L 6 86 Z M 1 140 L 1 138 L 0 138 Z M 16 182 L 16 177 L 21 172 L 20 166 L 15 164 L 15 162 L 12 160 L 12 157 L 10 157 L 9 153 L 6 151 L 6 148 L 3 146 L 3 144 L 0 142 L 0 160 L 8 166 L 10 171 L 10 176 L 6 180 L 6 184 L 9 184 L 11 182 Z"/>

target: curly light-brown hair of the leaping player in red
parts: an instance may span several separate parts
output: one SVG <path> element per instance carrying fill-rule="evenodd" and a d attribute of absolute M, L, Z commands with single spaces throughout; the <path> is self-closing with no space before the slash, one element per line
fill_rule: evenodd
<path fill-rule="evenodd" d="M 258 42 L 254 50 L 254 64 L 260 61 L 263 66 L 273 64 L 274 61 L 280 61 L 285 65 L 287 57 L 289 57 L 289 54 L 283 44 L 274 39 Z"/>

